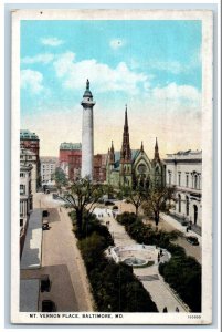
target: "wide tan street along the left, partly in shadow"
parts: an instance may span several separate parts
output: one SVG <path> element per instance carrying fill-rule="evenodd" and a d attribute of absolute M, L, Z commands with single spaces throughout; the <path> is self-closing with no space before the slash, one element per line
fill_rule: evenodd
<path fill-rule="evenodd" d="M 50 293 L 41 299 L 51 299 L 57 311 L 93 311 L 86 271 L 67 210 L 54 201 L 51 195 L 35 194 L 35 207 L 47 209 L 50 229 L 43 231 L 41 274 L 49 274 L 52 281 Z"/>

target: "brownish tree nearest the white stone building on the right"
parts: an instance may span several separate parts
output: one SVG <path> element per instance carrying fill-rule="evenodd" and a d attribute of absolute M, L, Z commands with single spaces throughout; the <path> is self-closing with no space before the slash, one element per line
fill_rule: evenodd
<path fill-rule="evenodd" d="M 142 208 L 148 217 L 159 224 L 160 212 L 169 212 L 175 205 L 175 187 L 151 187 L 149 188 Z"/>

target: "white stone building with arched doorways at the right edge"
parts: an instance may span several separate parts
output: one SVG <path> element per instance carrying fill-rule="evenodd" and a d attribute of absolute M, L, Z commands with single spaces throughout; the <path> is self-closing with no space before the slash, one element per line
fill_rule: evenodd
<path fill-rule="evenodd" d="M 176 186 L 173 214 L 193 225 L 202 224 L 202 152 L 187 151 L 167 154 L 167 185 Z"/>

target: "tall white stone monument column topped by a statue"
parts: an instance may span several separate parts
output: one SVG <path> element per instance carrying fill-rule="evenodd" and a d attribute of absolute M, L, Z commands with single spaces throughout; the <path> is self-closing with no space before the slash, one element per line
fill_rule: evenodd
<path fill-rule="evenodd" d="M 89 81 L 86 81 L 86 90 L 81 103 L 83 106 L 82 125 L 82 177 L 89 176 L 93 179 L 93 156 L 94 156 L 94 128 L 93 128 L 93 94 L 89 91 Z"/>

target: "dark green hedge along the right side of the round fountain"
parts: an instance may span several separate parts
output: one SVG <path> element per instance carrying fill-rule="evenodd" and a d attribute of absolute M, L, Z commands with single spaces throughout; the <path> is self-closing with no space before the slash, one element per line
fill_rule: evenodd
<path fill-rule="evenodd" d="M 201 312 L 201 264 L 182 247 L 171 243 L 177 232 L 155 231 L 129 212 L 119 215 L 117 221 L 137 242 L 166 248 L 172 255 L 168 262 L 159 264 L 159 272 L 193 312 Z"/>

